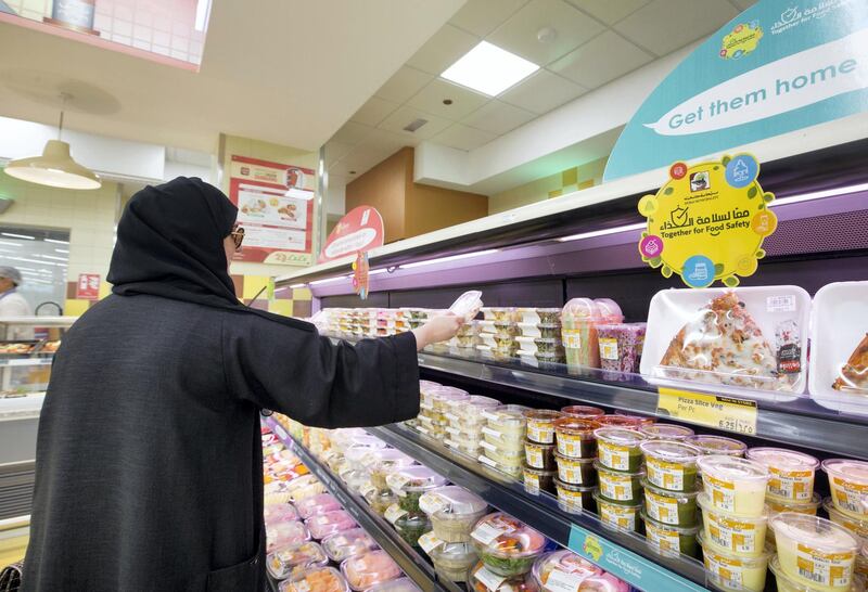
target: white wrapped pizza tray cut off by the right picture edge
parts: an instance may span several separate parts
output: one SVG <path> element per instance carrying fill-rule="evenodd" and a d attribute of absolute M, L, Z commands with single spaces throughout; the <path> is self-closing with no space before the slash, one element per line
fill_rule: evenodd
<path fill-rule="evenodd" d="M 868 414 L 868 282 L 835 282 L 814 296 L 809 391 L 819 404 Z"/>

